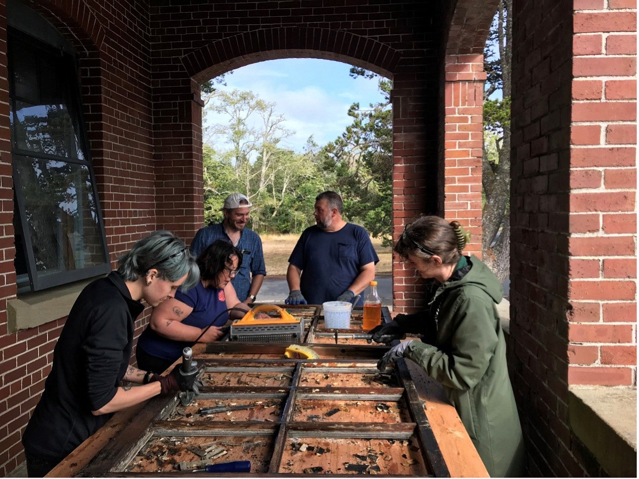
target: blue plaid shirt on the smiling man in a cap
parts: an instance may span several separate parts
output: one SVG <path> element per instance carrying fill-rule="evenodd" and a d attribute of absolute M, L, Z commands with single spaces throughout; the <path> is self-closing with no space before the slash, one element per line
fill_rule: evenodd
<path fill-rule="evenodd" d="M 191 243 L 192 255 L 199 256 L 200 253 L 217 239 L 223 239 L 231 243 L 229 235 L 224 231 L 222 223 L 213 224 L 197 230 L 196 237 Z M 240 301 L 244 301 L 249 296 L 251 274 L 264 274 L 266 276 L 266 265 L 264 263 L 264 252 L 262 251 L 262 240 L 258 233 L 249 228 L 244 228 L 240 232 L 240 242 L 237 248 L 242 251 L 242 266 L 231 279 Z"/>

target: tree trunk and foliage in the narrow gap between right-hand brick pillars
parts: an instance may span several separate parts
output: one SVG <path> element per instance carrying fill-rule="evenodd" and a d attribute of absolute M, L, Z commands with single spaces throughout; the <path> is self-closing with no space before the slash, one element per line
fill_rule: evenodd
<path fill-rule="evenodd" d="M 486 264 L 504 281 L 510 271 L 510 150 L 512 0 L 500 1 L 484 49 L 484 159 L 482 251 Z M 491 98 L 501 91 L 502 98 Z M 491 155 L 490 152 L 497 152 Z"/>

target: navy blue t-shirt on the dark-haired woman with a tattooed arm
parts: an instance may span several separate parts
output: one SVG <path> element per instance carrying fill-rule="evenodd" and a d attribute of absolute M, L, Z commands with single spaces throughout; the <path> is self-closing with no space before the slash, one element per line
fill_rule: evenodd
<path fill-rule="evenodd" d="M 213 326 L 224 326 L 229 319 L 229 313 L 222 313 L 227 309 L 224 290 L 204 288 L 202 281 L 197 281 L 197 285 L 188 291 L 177 290 L 175 299 L 193 308 L 189 316 L 182 320 L 183 324 L 203 328 L 217 317 Z M 142 348 L 147 354 L 170 361 L 178 359 L 182 355 L 182 350 L 192 345 L 191 342 L 175 341 L 160 336 L 150 326 L 142 331 L 137 340 L 137 347 Z"/>

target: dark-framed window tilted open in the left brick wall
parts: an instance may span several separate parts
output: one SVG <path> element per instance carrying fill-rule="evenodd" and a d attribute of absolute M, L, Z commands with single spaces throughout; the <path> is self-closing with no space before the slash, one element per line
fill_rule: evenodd
<path fill-rule="evenodd" d="M 110 271 L 73 57 L 8 30 L 18 292 Z"/>

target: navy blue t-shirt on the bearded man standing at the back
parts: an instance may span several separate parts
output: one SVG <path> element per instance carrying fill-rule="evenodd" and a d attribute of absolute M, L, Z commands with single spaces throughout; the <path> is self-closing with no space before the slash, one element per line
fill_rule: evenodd
<path fill-rule="evenodd" d="M 309 226 L 288 258 L 302 270 L 300 290 L 309 304 L 335 301 L 357 278 L 362 266 L 379 260 L 366 230 L 353 223 L 336 232 Z M 364 304 L 364 300 L 357 304 Z"/>

